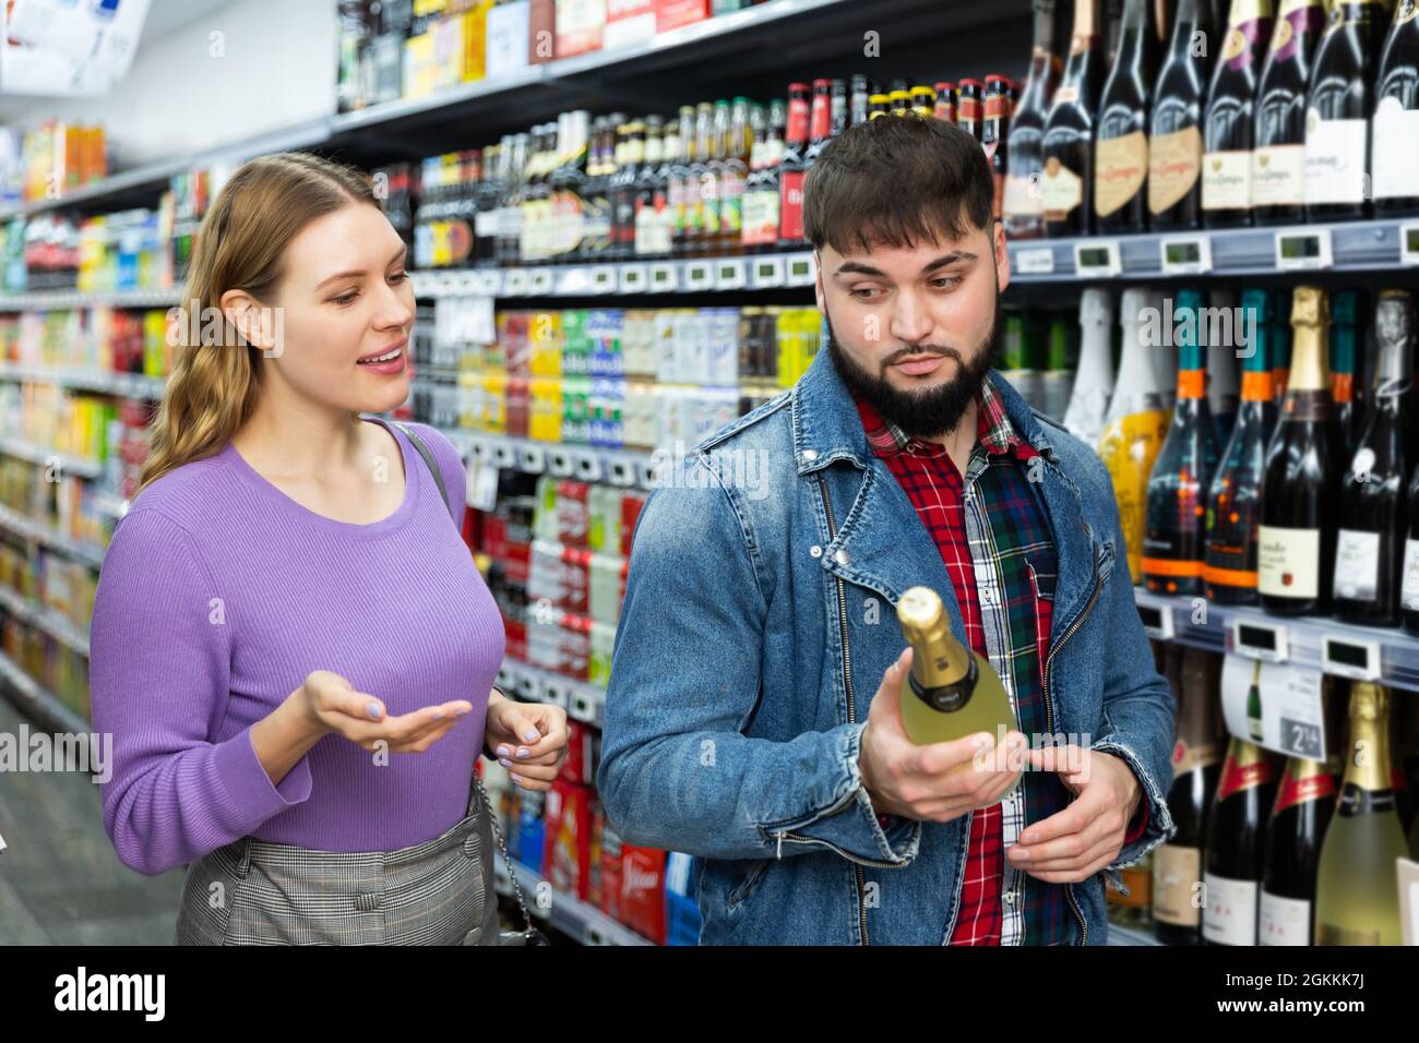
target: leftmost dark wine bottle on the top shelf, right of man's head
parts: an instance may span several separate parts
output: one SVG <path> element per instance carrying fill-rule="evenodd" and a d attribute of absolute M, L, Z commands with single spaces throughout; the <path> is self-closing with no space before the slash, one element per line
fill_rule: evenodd
<path fill-rule="evenodd" d="M 1010 116 L 1006 138 L 1005 234 L 1012 240 L 1044 236 L 1044 119 L 1059 82 L 1063 58 L 1054 50 L 1054 0 L 1034 0 L 1034 50 L 1025 91 Z M 937 95 L 941 105 L 941 95 Z"/>

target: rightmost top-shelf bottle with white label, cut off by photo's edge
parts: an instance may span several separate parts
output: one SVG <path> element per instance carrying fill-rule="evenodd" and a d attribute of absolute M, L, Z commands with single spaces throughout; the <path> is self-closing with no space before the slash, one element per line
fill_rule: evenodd
<path fill-rule="evenodd" d="M 1375 213 L 1419 214 L 1419 1 L 1399 0 L 1375 75 Z"/>

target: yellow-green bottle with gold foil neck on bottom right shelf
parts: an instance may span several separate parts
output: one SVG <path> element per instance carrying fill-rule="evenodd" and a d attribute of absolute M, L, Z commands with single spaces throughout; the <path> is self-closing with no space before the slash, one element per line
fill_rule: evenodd
<path fill-rule="evenodd" d="M 1389 775 L 1389 692 L 1357 681 L 1349 695 L 1349 756 L 1315 890 L 1317 945 L 1399 945 L 1395 860 L 1409 846 Z"/>

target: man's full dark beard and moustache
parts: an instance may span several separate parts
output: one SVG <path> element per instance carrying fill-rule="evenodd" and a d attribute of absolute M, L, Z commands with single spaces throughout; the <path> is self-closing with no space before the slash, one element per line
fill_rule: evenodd
<path fill-rule="evenodd" d="M 942 345 L 902 348 L 884 359 L 887 365 L 911 355 L 942 355 L 956 360 L 958 370 L 952 379 L 920 392 L 898 390 L 885 376 L 868 373 L 857 365 L 837 343 L 833 319 L 827 315 L 826 307 L 823 314 L 827 319 L 827 351 L 843 383 L 864 397 L 880 417 L 891 420 L 912 438 L 931 440 L 955 430 L 966 406 L 981 393 L 986 375 L 1000 358 L 999 285 L 995 291 L 995 319 L 990 322 L 990 333 L 976 348 L 969 363 L 961 358 L 959 351 Z"/>

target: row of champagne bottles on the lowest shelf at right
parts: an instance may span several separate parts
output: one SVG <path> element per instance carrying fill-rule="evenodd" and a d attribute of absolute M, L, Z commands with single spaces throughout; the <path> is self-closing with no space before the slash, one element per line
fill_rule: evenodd
<path fill-rule="evenodd" d="M 1178 830 L 1122 871 L 1130 893 L 1108 891 L 1110 920 L 1171 945 L 1401 944 L 1399 866 L 1419 857 L 1419 698 L 1327 678 L 1324 754 L 1286 756 L 1261 745 L 1252 670 L 1223 691 L 1223 656 L 1154 651 L 1178 700 Z"/>

